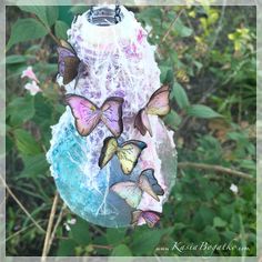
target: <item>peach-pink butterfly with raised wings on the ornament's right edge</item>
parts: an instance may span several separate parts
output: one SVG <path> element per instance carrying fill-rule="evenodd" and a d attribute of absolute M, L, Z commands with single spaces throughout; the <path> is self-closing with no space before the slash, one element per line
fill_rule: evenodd
<path fill-rule="evenodd" d="M 148 114 L 161 117 L 169 113 L 169 94 L 170 88 L 168 85 L 161 87 L 151 95 L 147 105 L 139 110 L 134 119 L 134 128 L 137 128 L 142 135 L 149 131 L 150 135 L 152 137 L 152 129 Z"/>

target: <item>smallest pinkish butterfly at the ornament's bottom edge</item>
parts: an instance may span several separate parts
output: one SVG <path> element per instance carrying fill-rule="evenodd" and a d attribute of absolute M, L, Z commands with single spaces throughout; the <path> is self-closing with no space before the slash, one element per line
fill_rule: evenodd
<path fill-rule="evenodd" d="M 159 223 L 160 216 L 158 212 L 148 210 L 135 210 L 132 212 L 132 221 L 131 224 L 137 225 L 140 219 L 143 219 L 149 228 L 154 228 L 155 224 Z"/>

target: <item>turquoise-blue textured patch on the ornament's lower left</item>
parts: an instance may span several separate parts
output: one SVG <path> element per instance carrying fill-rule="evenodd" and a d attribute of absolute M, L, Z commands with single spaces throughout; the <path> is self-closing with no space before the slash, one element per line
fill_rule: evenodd
<path fill-rule="evenodd" d="M 114 157 L 110 163 L 110 174 L 113 175 L 108 180 L 107 169 L 103 169 L 95 175 L 95 188 L 85 188 L 87 177 L 80 167 L 87 158 L 87 151 L 82 147 L 85 147 L 85 139 L 78 135 L 74 125 L 69 123 L 59 132 L 56 148 L 49 151 L 49 161 L 54 173 L 59 174 L 56 184 L 61 198 L 74 213 L 92 223 L 113 228 L 130 224 L 130 206 L 113 192 L 109 191 L 108 195 L 105 192 L 109 184 L 130 178 L 122 173 Z"/>

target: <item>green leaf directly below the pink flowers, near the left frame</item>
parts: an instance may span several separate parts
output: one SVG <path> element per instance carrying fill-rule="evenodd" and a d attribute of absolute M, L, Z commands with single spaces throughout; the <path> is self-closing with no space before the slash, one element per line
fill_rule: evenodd
<path fill-rule="evenodd" d="M 32 119 L 34 115 L 33 97 L 27 95 L 24 98 L 13 99 L 8 104 L 7 115 L 10 117 L 10 122 L 12 125 L 19 125 Z"/>

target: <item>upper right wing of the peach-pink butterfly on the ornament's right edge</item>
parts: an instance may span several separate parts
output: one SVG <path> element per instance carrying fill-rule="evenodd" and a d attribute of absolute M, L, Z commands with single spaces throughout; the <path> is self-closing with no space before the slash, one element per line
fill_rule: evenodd
<path fill-rule="evenodd" d="M 170 88 L 168 85 L 163 85 L 160 89 L 158 89 L 151 95 L 145 107 L 145 113 L 157 114 L 157 115 L 165 115 L 167 113 L 169 113 L 170 111 L 169 94 L 170 94 Z"/>

